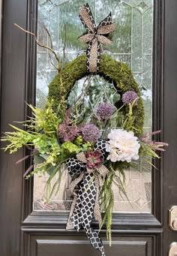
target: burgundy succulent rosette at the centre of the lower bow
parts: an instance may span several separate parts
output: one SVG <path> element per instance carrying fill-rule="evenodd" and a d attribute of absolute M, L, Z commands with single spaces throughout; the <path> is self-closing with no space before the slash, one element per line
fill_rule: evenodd
<path fill-rule="evenodd" d="M 87 159 L 87 167 L 89 169 L 97 169 L 99 165 L 102 163 L 101 152 L 99 150 L 95 150 L 94 152 L 86 152 Z"/>

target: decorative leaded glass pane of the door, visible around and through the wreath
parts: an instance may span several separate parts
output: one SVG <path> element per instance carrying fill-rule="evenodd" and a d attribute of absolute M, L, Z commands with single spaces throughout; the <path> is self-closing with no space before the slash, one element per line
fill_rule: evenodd
<path fill-rule="evenodd" d="M 39 0 L 38 38 L 42 44 L 52 47 L 61 60 L 62 67 L 71 62 L 86 50 L 86 44 L 77 38 L 85 32 L 80 18 L 79 8 L 85 0 Z M 96 23 L 100 22 L 112 11 L 116 29 L 113 33 L 113 44 L 104 47 L 113 59 L 127 63 L 133 71 L 136 82 L 142 89 L 145 105 L 145 131 L 151 130 L 151 101 L 152 101 L 152 0 L 88 0 L 92 8 Z M 46 33 L 49 31 L 49 35 Z M 55 77 L 55 59 L 48 51 L 37 48 L 37 106 L 41 98 L 46 100 L 47 85 Z M 119 99 L 113 83 L 99 76 L 86 77 L 74 85 L 68 98 L 71 105 L 81 92 L 83 97 L 78 102 L 81 113 L 85 113 L 85 120 L 94 118 L 95 108 L 99 103 L 108 101 L 113 106 Z M 84 85 L 83 85 L 84 84 Z M 83 111 L 83 112 L 82 112 Z M 72 113 L 74 115 L 74 113 Z M 115 115 L 116 116 L 116 115 Z M 116 120 L 117 121 L 117 120 Z M 115 120 L 112 119 L 112 126 Z M 141 163 L 140 167 L 141 167 Z M 46 176 L 34 177 L 34 209 L 35 210 L 68 210 L 71 206 L 71 194 L 68 189 L 69 178 L 64 170 L 62 187 L 52 200 L 46 204 L 45 187 Z M 57 177 L 56 177 L 57 179 Z M 121 198 L 117 189 L 114 190 L 117 212 L 151 212 L 151 170 L 126 170 L 127 197 Z M 55 181 L 53 181 L 55 182 Z"/>

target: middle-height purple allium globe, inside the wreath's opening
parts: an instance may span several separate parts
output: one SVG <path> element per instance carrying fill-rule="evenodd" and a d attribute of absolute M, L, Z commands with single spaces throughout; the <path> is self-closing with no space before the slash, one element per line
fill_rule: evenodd
<path fill-rule="evenodd" d="M 113 115 L 113 107 L 109 103 L 102 103 L 96 110 L 97 116 L 102 120 L 108 120 Z"/>

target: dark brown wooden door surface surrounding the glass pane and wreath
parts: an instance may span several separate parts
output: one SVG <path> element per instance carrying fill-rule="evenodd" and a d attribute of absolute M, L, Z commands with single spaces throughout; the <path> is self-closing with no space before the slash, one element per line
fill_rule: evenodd
<path fill-rule="evenodd" d="M 22 121 L 30 115 L 25 101 L 34 104 L 36 92 L 34 40 L 13 23 L 31 32 L 37 30 L 36 1 L 5 0 L 3 4 L 1 132 L 9 130 L 7 124 L 13 120 Z M 169 149 L 156 163 L 159 171 L 152 170 L 151 213 L 115 213 L 112 248 L 107 245 L 104 230 L 101 233 L 107 255 L 166 256 L 169 244 L 176 240 L 167 216 L 169 205 L 177 200 L 176 12 L 175 0 L 154 2 L 153 130 L 162 128 Z M 69 256 L 73 251 L 78 255 L 97 255 L 84 233 L 65 231 L 68 212 L 33 212 L 33 181 L 25 181 L 26 167 L 15 164 L 24 154 L 23 150 L 16 155 L 0 154 L 0 255 Z M 97 223 L 94 225 L 98 227 Z"/>

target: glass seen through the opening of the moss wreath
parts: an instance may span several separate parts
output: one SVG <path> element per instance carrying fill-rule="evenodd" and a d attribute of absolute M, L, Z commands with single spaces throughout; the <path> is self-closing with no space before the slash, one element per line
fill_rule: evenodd
<path fill-rule="evenodd" d="M 113 106 L 113 110 L 116 110 L 115 106 L 119 99 L 120 95 L 111 81 L 105 80 L 98 75 L 92 75 L 91 77 L 83 77 L 83 79 L 75 83 L 68 96 L 68 107 L 73 106 L 77 101 L 76 107 L 80 119 L 83 122 L 95 122 L 96 109 L 99 104 L 103 102 L 110 103 Z M 71 115 L 75 119 L 74 111 Z"/>

